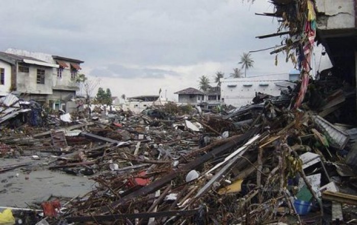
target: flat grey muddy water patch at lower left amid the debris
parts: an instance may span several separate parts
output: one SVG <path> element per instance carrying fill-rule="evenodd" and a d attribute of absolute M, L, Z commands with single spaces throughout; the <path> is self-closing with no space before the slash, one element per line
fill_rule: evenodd
<path fill-rule="evenodd" d="M 93 181 L 46 169 L 46 160 L 0 159 L 0 167 L 31 162 L 31 166 L 0 173 L 0 206 L 27 207 L 50 196 L 75 197 L 94 188 Z"/>

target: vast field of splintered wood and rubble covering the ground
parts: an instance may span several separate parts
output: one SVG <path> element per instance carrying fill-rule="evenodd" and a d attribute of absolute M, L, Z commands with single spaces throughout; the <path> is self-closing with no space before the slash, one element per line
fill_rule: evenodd
<path fill-rule="evenodd" d="M 328 114 L 323 118 L 320 113 L 333 107 L 329 114 L 334 114 L 348 103 L 316 107 L 307 97 L 303 110 L 292 110 L 299 85 L 291 93 L 228 108 L 230 112 L 170 105 L 141 114 L 93 113 L 81 119 L 64 114 L 70 120 L 47 115 L 55 124 L 23 123 L 20 132 L 11 128 L 14 118 L 8 118 L 3 128 L 11 134 L 0 137 L 1 156 L 39 161 L 3 165 L 0 172 L 21 167 L 31 174 L 34 162 L 47 159 L 42 166 L 48 170 L 89 176 L 96 183 L 91 192 L 69 202 L 49 199 L 35 207 L 45 214 L 32 219 L 44 223 L 43 216 L 49 216 L 49 224 L 273 224 L 350 218 L 356 211 L 341 204 L 355 204 L 356 174 L 346 164 L 354 165 L 355 128 L 343 123 L 345 118 L 335 116 L 330 122 Z M 310 85 L 323 90 L 319 82 Z M 319 93 L 329 102 L 331 95 Z"/>

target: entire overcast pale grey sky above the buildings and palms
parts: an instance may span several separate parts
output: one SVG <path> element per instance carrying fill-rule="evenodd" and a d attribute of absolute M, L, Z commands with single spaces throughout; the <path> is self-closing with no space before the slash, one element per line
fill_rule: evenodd
<path fill-rule="evenodd" d="M 281 44 L 266 0 L 2 0 L 0 49 L 25 49 L 85 61 L 113 95 L 158 94 L 198 87 L 198 78 L 226 76 L 243 52 Z M 253 53 L 248 76 L 293 68 L 269 51 Z M 163 92 L 164 93 L 164 92 Z"/>

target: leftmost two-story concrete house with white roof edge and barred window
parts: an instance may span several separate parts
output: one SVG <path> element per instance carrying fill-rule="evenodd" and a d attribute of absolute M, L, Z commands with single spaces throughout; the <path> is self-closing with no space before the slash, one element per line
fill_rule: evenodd
<path fill-rule="evenodd" d="M 0 52 L 0 62 L 2 95 L 16 91 L 24 99 L 45 103 L 53 94 L 52 74 L 58 65 L 4 52 Z"/>

